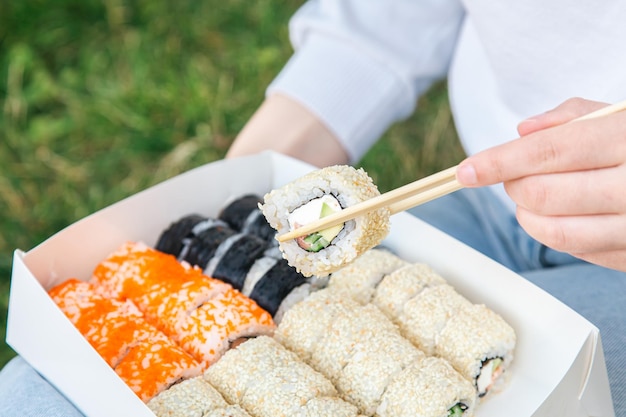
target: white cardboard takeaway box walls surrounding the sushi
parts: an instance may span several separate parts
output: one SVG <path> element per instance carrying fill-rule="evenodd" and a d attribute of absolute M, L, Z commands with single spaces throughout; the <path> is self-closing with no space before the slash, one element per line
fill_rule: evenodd
<path fill-rule="evenodd" d="M 123 242 L 154 245 L 190 213 L 216 216 L 245 193 L 263 195 L 313 168 L 265 152 L 218 161 L 100 210 L 14 257 L 7 343 L 88 416 L 152 416 L 150 410 L 67 320 L 46 290 L 70 277 L 88 279 Z M 614 415 L 595 326 L 517 274 L 400 213 L 384 245 L 430 264 L 475 303 L 515 329 L 516 356 L 506 388 L 483 401 L 479 417 Z"/>

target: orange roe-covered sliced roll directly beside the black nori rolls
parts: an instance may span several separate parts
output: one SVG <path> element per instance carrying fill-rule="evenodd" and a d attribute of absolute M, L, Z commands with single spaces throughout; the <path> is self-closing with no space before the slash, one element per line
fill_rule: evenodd
<path fill-rule="evenodd" d="M 91 282 L 109 297 L 132 300 L 205 368 L 240 338 L 275 328 L 267 311 L 231 285 L 142 243 L 122 245 L 98 264 Z"/>

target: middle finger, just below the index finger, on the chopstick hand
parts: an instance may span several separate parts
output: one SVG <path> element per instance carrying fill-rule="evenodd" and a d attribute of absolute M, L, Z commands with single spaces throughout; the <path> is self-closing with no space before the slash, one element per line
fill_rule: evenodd
<path fill-rule="evenodd" d="M 506 182 L 520 207 L 543 216 L 626 213 L 626 165 L 544 174 Z"/>

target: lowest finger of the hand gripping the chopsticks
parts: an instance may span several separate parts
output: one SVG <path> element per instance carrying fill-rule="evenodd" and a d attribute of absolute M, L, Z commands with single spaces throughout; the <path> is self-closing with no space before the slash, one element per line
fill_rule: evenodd
<path fill-rule="evenodd" d="M 522 207 L 516 215 L 529 235 L 558 251 L 593 253 L 626 248 L 626 215 L 541 216 Z"/>

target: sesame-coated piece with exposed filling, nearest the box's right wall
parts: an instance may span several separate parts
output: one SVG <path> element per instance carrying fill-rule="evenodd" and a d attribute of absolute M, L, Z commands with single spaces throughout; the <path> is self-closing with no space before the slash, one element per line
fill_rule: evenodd
<path fill-rule="evenodd" d="M 502 386 L 516 336 L 504 319 L 482 304 L 462 308 L 439 333 L 436 354 L 473 381 L 479 396 Z"/>

